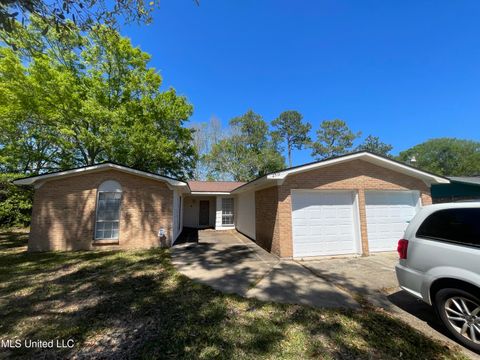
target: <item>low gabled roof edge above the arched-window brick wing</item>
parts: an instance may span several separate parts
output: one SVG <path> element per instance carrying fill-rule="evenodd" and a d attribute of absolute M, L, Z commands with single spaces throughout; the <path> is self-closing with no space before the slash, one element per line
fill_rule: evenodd
<path fill-rule="evenodd" d="M 15 185 L 34 185 L 38 182 L 43 182 L 45 180 L 70 177 L 70 176 L 80 175 L 84 173 L 92 173 L 92 172 L 104 171 L 109 169 L 118 170 L 124 173 L 133 174 L 137 176 L 142 176 L 142 177 L 153 179 L 153 180 L 163 181 L 173 187 L 181 187 L 181 188 L 188 189 L 188 184 L 185 181 L 181 181 L 168 176 L 158 175 L 148 171 L 133 169 L 131 167 L 115 164 L 112 162 L 105 162 L 97 165 L 83 166 L 83 167 L 78 167 L 78 168 L 69 169 L 69 170 L 56 171 L 56 172 L 43 174 L 43 175 L 29 176 L 25 178 L 16 179 L 13 181 L 13 183 Z"/>

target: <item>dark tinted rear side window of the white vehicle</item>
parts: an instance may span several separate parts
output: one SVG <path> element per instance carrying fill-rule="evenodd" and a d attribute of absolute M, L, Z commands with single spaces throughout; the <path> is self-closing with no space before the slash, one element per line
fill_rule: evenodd
<path fill-rule="evenodd" d="M 457 208 L 434 212 L 422 223 L 417 237 L 480 246 L 480 209 Z"/>

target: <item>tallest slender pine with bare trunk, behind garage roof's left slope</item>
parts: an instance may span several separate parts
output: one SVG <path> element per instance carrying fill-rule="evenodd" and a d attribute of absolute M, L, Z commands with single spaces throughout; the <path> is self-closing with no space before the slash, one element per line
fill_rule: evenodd
<path fill-rule="evenodd" d="M 273 132 L 275 138 L 283 140 L 287 145 L 288 166 L 292 166 L 292 150 L 301 150 L 310 143 L 308 132 L 312 128 L 309 123 L 302 123 L 303 116 L 298 111 L 289 110 L 282 112 L 272 121 L 276 128 Z"/>

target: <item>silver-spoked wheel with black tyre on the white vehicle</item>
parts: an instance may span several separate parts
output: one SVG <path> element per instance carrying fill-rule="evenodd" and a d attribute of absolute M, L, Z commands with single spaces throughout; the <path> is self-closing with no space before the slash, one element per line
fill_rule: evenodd
<path fill-rule="evenodd" d="M 434 305 L 448 331 L 480 352 L 480 297 L 460 289 L 442 289 L 435 294 Z"/>

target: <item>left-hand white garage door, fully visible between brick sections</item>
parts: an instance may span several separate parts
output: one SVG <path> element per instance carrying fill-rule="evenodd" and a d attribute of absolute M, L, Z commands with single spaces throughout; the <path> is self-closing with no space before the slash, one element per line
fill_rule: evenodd
<path fill-rule="evenodd" d="M 353 192 L 293 191 L 293 256 L 356 252 Z"/>

